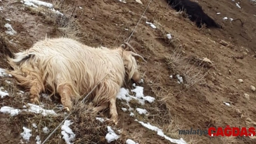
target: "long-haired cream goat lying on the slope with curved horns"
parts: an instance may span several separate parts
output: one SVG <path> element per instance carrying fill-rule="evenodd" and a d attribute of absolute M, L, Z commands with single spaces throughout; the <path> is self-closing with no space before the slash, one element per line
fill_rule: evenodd
<path fill-rule="evenodd" d="M 68 38 L 46 38 L 14 56 L 14 59 L 8 57 L 8 63 L 14 69 L 9 73 L 21 86 L 30 88 L 31 102 L 39 102 L 39 94 L 50 90 L 49 96 L 59 93 L 61 103 L 70 111 L 72 100 L 90 92 L 98 84 L 89 97 L 97 105 L 94 112 L 109 107 L 115 124 L 118 118 L 116 95 L 125 73 L 129 79 L 139 82 L 141 77 L 135 57 L 144 60 L 121 47 L 92 48 Z"/>

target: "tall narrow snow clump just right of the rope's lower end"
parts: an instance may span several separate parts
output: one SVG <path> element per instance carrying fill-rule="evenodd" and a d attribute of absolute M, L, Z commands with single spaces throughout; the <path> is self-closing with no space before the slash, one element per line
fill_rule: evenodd
<path fill-rule="evenodd" d="M 64 124 L 61 126 L 61 135 L 63 135 L 63 139 L 67 144 L 72 144 L 70 141 L 74 140 L 76 134 L 69 128 L 70 125 L 72 125 L 73 122 L 70 120 L 65 120 Z"/>

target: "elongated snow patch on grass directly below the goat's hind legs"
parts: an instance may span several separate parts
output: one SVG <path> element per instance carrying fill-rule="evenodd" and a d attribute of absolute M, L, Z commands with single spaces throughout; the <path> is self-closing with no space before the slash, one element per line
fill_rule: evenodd
<path fill-rule="evenodd" d="M 46 116 L 49 114 L 56 115 L 54 110 L 46 110 L 46 109 L 41 108 L 39 105 L 34 105 L 34 104 L 30 104 L 30 103 L 28 103 L 27 105 L 29 105 L 30 108 L 25 111 L 36 113 L 36 114 L 41 113 L 43 116 Z"/>

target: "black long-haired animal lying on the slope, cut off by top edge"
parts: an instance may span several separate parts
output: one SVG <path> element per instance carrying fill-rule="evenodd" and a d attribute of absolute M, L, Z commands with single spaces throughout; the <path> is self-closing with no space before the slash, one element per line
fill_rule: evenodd
<path fill-rule="evenodd" d="M 205 23 L 207 28 L 222 28 L 221 25 L 204 13 L 202 7 L 196 2 L 190 0 L 167 0 L 167 2 L 176 11 L 186 11 L 189 19 L 196 22 L 197 27 L 202 27 Z"/>

